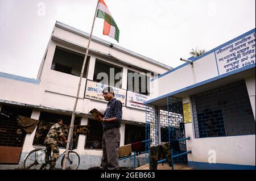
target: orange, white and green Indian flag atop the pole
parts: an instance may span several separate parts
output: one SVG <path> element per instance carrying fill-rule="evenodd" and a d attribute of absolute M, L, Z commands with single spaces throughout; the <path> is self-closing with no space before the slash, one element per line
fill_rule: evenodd
<path fill-rule="evenodd" d="M 119 41 L 119 29 L 115 20 L 112 18 L 111 13 L 109 12 L 108 6 L 103 0 L 98 0 L 98 11 L 97 17 L 104 19 L 104 28 L 103 35 L 108 35 L 113 37 L 113 39 Z"/>

